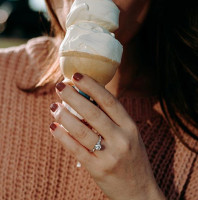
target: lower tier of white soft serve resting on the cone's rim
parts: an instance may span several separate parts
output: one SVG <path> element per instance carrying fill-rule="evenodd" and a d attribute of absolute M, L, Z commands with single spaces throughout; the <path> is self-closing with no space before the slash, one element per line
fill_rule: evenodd
<path fill-rule="evenodd" d="M 67 29 L 60 51 L 63 56 L 63 52 L 78 51 L 100 55 L 120 63 L 122 48 L 113 33 L 92 22 L 82 22 Z"/>

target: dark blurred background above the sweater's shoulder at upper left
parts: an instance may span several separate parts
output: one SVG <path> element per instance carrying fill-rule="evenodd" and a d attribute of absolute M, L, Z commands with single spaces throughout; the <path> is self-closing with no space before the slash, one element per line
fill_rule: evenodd
<path fill-rule="evenodd" d="M 44 0 L 0 0 L 0 48 L 23 44 L 49 29 Z"/>

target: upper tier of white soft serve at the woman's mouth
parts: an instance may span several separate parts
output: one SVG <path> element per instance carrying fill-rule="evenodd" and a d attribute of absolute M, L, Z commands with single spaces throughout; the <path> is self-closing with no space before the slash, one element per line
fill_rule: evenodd
<path fill-rule="evenodd" d="M 119 27 L 119 13 L 112 0 L 76 0 L 67 15 L 66 28 L 87 21 L 113 32 Z"/>

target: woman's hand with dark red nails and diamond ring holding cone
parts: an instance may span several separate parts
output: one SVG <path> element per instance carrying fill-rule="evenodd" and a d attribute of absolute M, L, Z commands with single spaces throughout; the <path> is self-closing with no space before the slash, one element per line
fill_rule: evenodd
<path fill-rule="evenodd" d="M 72 81 L 100 108 L 66 82 L 57 85 L 57 93 L 102 136 L 102 149 L 90 152 L 98 135 L 60 103 L 51 105 L 52 115 L 62 125 L 51 125 L 54 137 L 76 156 L 110 199 L 165 199 L 153 177 L 138 128 L 124 107 L 89 76 L 76 73 Z"/>

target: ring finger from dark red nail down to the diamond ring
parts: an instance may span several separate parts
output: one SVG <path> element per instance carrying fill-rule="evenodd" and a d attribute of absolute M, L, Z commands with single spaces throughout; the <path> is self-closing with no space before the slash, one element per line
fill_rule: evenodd
<path fill-rule="evenodd" d="M 51 105 L 51 113 L 59 124 L 88 150 L 92 150 L 98 140 L 98 135 L 71 114 L 62 104 Z"/>

